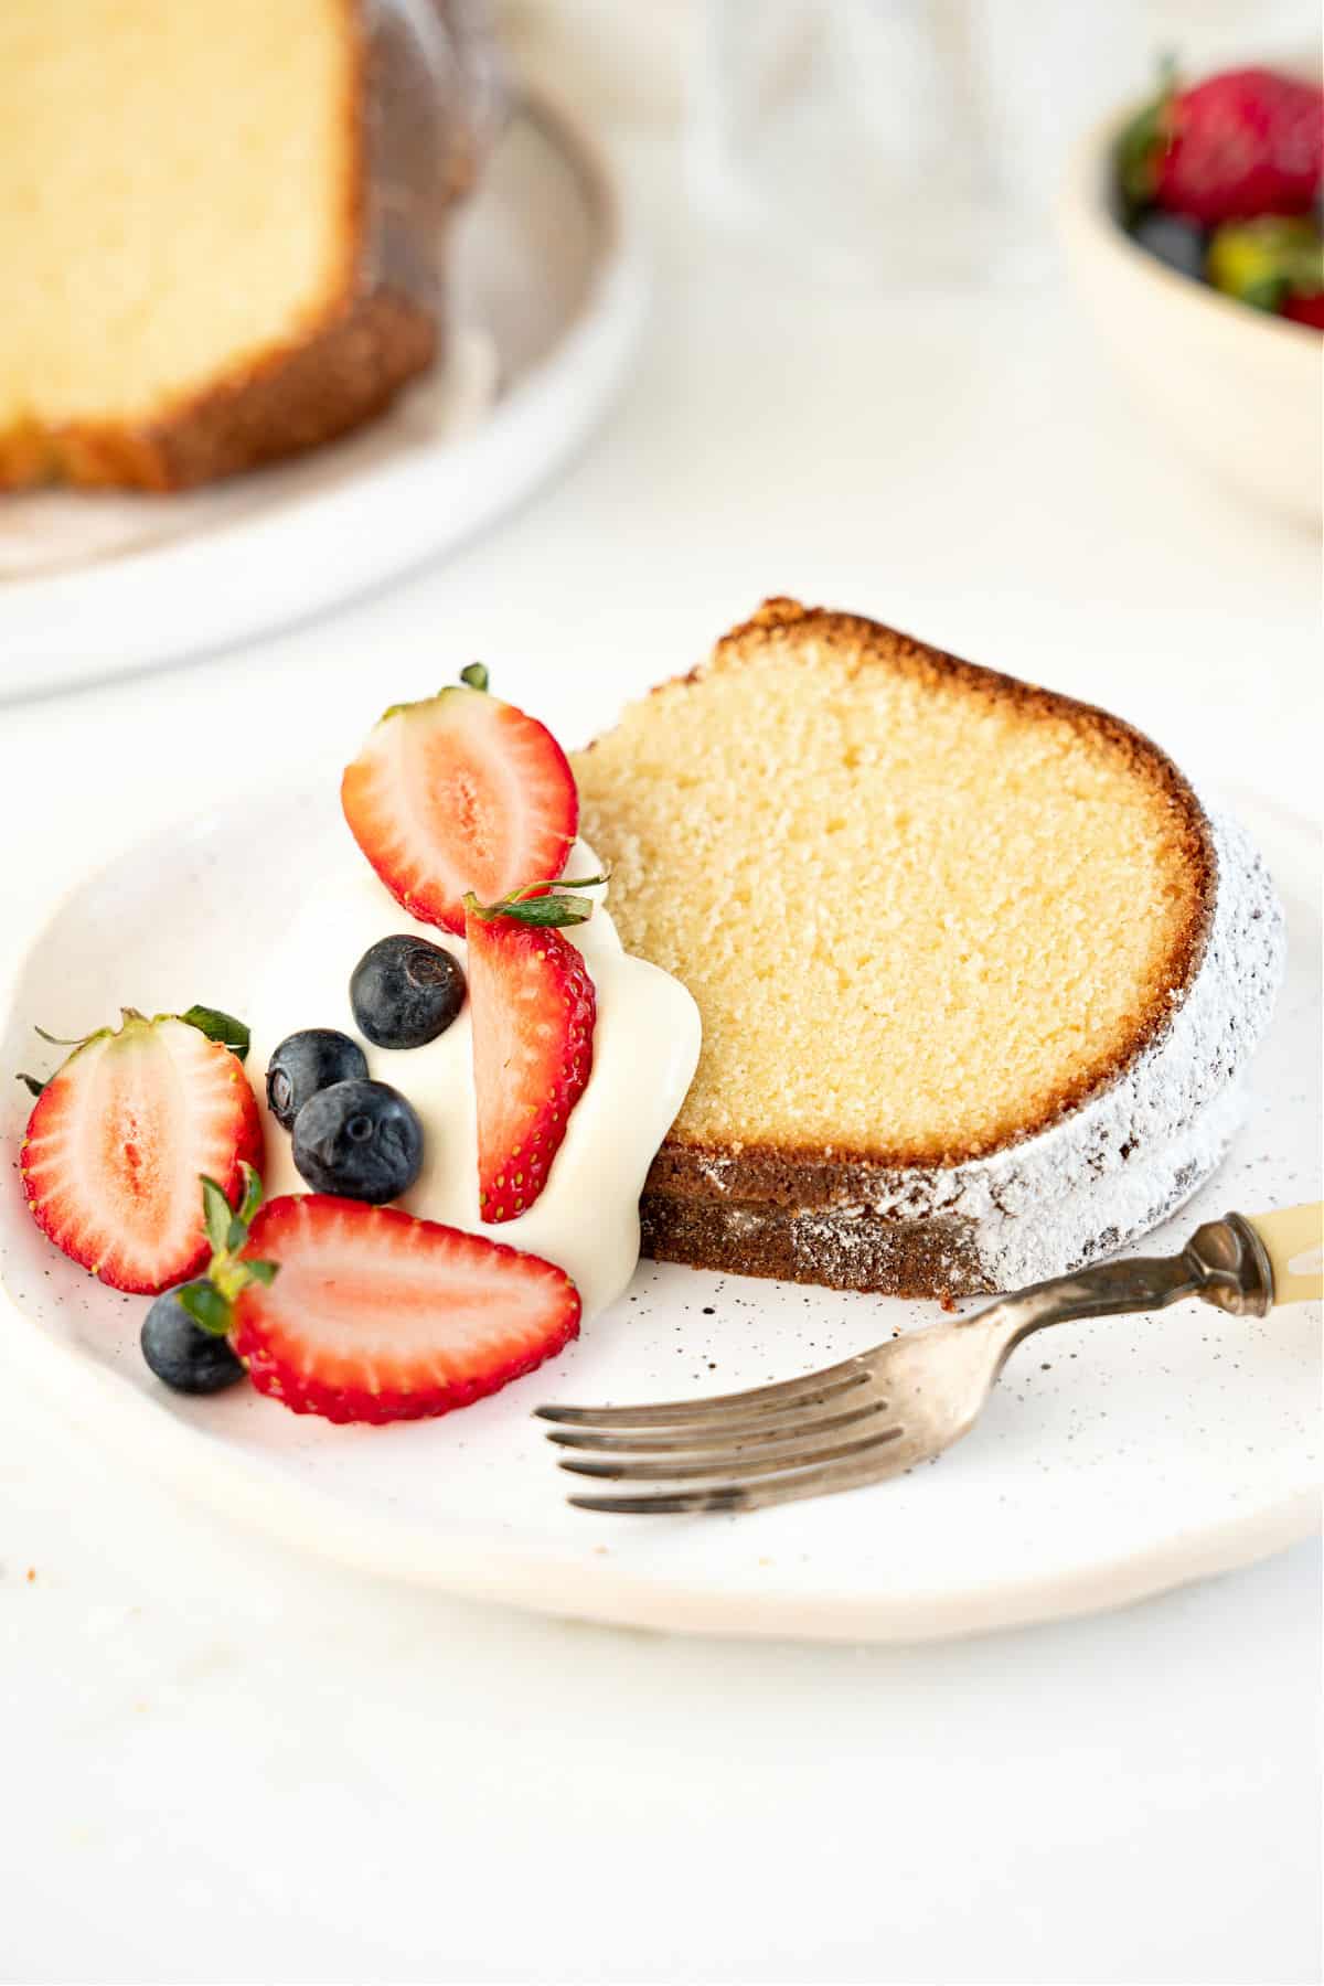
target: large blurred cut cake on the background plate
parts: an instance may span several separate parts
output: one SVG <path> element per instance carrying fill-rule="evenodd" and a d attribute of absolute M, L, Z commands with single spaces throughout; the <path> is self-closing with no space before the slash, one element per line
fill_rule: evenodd
<path fill-rule="evenodd" d="M 490 58 L 468 0 L 0 8 L 0 489 L 189 489 L 437 357 Z"/>

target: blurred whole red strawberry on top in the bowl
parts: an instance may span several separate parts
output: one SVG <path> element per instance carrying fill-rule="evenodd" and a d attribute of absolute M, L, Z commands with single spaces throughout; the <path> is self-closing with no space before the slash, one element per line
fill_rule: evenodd
<path fill-rule="evenodd" d="M 1324 177 L 1324 91 L 1272 70 L 1227 70 L 1161 115 L 1159 207 L 1201 226 L 1302 214 Z"/>

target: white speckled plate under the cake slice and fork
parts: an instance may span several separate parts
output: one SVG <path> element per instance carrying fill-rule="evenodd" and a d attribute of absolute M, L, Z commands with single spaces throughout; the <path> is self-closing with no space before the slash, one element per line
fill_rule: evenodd
<path fill-rule="evenodd" d="M 32 1023 L 71 1035 L 111 1001 L 242 1015 L 288 892 L 341 846 L 326 788 L 212 814 L 81 884 L 18 971 L 0 1068 L 50 1068 Z M 1316 840 L 1262 802 L 1243 812 L 1288 910 L 1288 985 L 1249 1128 L 1155 1247 L 1229 1207 L 1320 1196 Z M 280 864 L 248 862 L 260 846 Z M 16 1166 L 28 1104 L 16 1082 L 0 1098 Z M 248 1388 L 169 1394 L 139 1358 L 143 1299 L 58 1255 L 16 1192 L 0 1202 L 0 1275 L 12 1382 L 54 1386 L 89 1434 L 312 1551 L 550 1613 L 736 1634 L 955 1634 L 1247 1563 L 1318 1511 L 1318 1305 L 1262 1323 L 1189 1303 L 1066 1325 L 1012 1360 L 975 1434 L 917 1476 L 746 1517 L 609 1519 L 562 1501 L 566 1478 L 530 1420 L 540 1400 L 786 1378 L 935 1307 L 641 1263 L 631 1293 L 542 1372 L 445 1420 L 373 1430 L 300 1420 Z"/>

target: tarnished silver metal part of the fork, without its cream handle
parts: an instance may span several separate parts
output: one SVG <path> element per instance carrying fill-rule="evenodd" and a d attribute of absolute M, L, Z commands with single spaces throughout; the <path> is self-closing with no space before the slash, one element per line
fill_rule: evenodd
<path fill-rule="evenodd" d="M 572 1495 L 578 1509 L 762 1509 L 832 1495 L 931 1462 L 975 1426 L 998 1372 L 1034 1331 L 1074 1317 L 1155 1311 L 1183 1297 L 1264 1317 L 1274 1273 L 1241 1213 L 1199 1227 L 1179 1255 L 1104 1263 L 1034 1283 L 975 1317 L 911 1331 L 778 1386 L 665 1406 L 540 1406 L 574 1476 L 629 1493 Z M 633 1486 L 667 1484 L 671 1488 Z"/>

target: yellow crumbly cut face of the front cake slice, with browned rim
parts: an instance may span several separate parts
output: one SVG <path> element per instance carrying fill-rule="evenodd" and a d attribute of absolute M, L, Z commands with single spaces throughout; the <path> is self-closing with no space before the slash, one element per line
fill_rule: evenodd
<path fill-rule="evenodd" d="M 873 622 L 770 602 L 574 769 L 625 947 L 703 1015 L 671 1150 L 977 1158 L 1199 965 L 1209 830 L 1157 747 Z"/>

